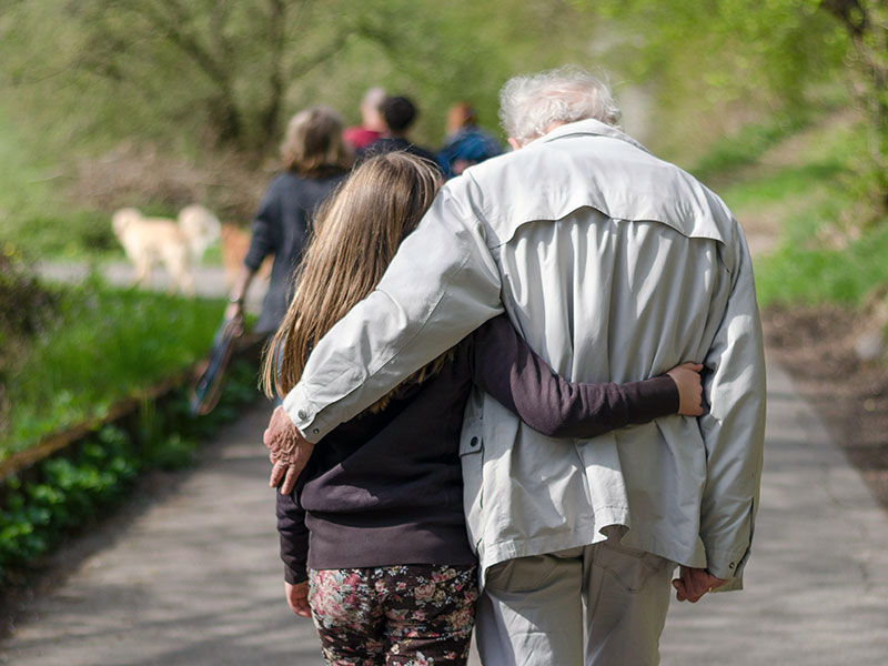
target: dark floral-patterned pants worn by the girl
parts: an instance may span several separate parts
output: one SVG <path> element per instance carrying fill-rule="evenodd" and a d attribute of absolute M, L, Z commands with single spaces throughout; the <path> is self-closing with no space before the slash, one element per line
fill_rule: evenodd
<path fill-rule="evenodd" d="M 411 564 L 312 569 L 309 604 L 335 666 L 465 664 L 477 567 Z"/>

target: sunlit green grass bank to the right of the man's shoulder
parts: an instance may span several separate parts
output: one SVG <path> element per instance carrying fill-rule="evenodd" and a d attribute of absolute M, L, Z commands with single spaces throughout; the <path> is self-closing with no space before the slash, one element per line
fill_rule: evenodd
<path fill-rule="evenodd" d="M 771 221 L 780 238 L 776 251 L 755 259 L 763 307 L 854 306 L 888 282 L 888 219 L 860 223 L 871 214 L 860 174 L 865 142 L 862 125 L 827 118 L 783 165 L 736 165 L 736 180 L 722 191 L 725 201 L 740 221 Z M 836 246 L 844 236 L 856 240 Z"/>

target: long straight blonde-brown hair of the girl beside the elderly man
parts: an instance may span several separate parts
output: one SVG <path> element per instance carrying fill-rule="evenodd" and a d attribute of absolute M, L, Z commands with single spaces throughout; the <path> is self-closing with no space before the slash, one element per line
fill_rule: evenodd
<path fill-rule="evenodd" d="M 431 162 L 391 152 L 357 167 L 322 204 L 296 271 L 293 300 L 265 349 L 261 384 L 269 397 L 296 385 L 317 341 L 376 287 L 440 188 L 441 174 Z M 402 386 L 434 375 L 451 357 L 445 353 Z M 384 408 L 393 393 L 371 410 Z"/>

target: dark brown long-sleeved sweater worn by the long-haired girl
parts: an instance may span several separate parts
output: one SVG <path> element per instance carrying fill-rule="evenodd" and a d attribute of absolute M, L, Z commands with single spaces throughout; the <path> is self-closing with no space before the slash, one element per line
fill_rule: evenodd
<path fill-rule="evenodd" d="M 304 581 L 307 567 L 475 562 L 458 456 L 473 384 L 555 437 L 592 437 L 678 411 L 672 377 L 567 382 L 497 316 L 461 342 L 434 377 L 317 443 L 293 493 L 278 494 L 287 582 Z"/>

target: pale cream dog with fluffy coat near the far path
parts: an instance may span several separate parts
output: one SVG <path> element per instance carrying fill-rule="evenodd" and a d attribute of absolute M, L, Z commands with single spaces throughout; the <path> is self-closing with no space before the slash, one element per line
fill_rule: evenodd
<path fill-rule="evenodd" d="M 135 281 L 148 285 L 151 269 L 163 262 L 170 272 L 170 290 L 194 294 L 190 260 L 200 260 L 219 238 L 219 220 L 202 205 L 190 205 L 179 213 L 179 222 L 168 218 L 145 218 L 137 209 L 121 209 L 112 218 L 114 233 L 135 268 Z"/>

